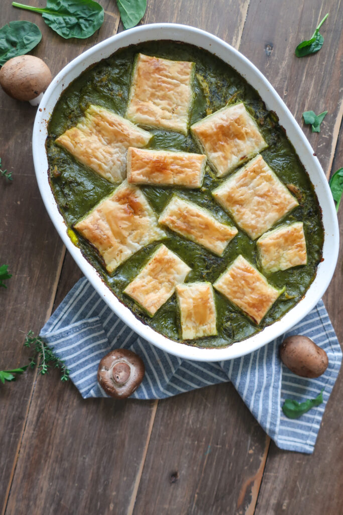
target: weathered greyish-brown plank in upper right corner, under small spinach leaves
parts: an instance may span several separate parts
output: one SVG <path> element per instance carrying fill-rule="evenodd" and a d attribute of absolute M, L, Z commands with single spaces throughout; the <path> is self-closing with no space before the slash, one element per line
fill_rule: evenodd
<path fill-rule="evenodd" d="M 343 31 L 341 0 L 297 0 L 262 4 L 250 2 L 240 45 L 242 52 L 266 76 L 302 127 L 318 159 L 327 171 L 332 163 L 342 117 L 341 59 Z M 320 32 L 324 44 L 320 52 L 297 58 L 294 50 L 312 36 L 323 16 L 329 12 Z M 303 124 L 302 113 L 328 111 L 320 133 Z"/>

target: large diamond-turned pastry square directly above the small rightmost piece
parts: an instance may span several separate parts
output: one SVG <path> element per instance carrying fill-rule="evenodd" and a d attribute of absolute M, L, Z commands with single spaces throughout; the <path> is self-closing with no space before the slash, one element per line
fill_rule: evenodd
<path fill-rule="evenodd" d="M 212 195 L 251 239 L 261 236 L 298 205 L 260 155 L 226 179 Z"/>

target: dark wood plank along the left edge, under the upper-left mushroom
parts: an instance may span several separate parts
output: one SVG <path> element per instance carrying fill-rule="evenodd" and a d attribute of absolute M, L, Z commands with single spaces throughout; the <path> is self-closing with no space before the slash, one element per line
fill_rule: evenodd
<path fill-rule="evenodd" d="M 31 5 L 42 7 L 45 3 L 31 2 Z M 117 8 L 111 0 L 103 1 L 102 5 L 112 16 L 105 16 L 101 29 L 87 40 L 65 41 L 45 25 L 40 15 L 15 9 L 11 3 L 1 8 L 2 24 L 28 20 L 39 25 L 43 39 L 32 54 L 43 58 L 55 75 L 85 48 L 117 30 Z M 39 332 L 51 314 L 64 256 L 64 247 L 46 214 L 34 176 L 31 132 L 35 111 L 28 102 L 13 100 L 0 90 L 0 156 L 4 168 L 13 172 L 13 183 L 6 184 L 0 178 L 0 264 L 8 264 L 13 273 L 8 289 L 0 291 L 0 369 L 28 362 L 28 352 L 23 348 L 24 333 L 30 329 Z M 0 509 L 6 505 L 34 377 L 28 371 L 20 381 L 0 389 L 0 417 L 6 421 L 0 429 Z"/>

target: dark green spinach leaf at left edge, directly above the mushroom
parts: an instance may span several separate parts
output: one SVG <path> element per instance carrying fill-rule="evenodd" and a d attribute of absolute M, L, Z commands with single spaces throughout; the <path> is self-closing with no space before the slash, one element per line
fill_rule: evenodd
<path fill-rule="evenodd" d="M 10 22 L 0 29 L 0 66 L 12 57 L 27 54 L 42 39 L 42 32 L 35 23 Z"/>

